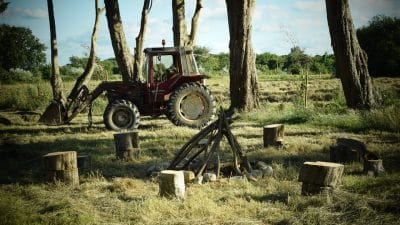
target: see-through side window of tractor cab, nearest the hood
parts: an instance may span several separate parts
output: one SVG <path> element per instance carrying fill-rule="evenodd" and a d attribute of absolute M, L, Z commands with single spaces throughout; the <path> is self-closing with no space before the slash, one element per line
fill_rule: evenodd
<path fill-rule="evenodd" d="M 153 76 L 154 82 L 166 81 L 176 71 L 173 55 L 153 56 Z"/>

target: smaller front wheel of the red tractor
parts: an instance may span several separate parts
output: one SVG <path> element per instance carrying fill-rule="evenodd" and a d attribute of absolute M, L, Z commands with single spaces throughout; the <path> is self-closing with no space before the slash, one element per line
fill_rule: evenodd
<path fill-rule="evenodd" d="M 140 114 L 137 107 L 126 100 L 109 103 L 103 114 L 104 125 L 108 130 L 125 130 L 138 128 Z"/>

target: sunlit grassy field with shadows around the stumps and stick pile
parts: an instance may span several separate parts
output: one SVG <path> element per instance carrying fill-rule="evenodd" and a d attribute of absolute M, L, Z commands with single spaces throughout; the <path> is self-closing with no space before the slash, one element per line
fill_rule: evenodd
<path fill-rule="evenodd" d="M 184 201 L 160 198 L 158 183 L 146 170 L 171 160 L 198 130 L 176 127 L 165 117 L 144 117 L 140 158 L 120 162 L 114 132 L 102 123 L 103 99 L 96 102 L 91 129 L 85 114 L 68 126 L 38 125 L 44 107 L 39 103 L 34 112 L 2 110 L 0 117 L 12 125 L 0 124 L 0 224 L 399 224 L 400 79 L 375 80 L 381 106 L 370 112 L 346 109 L 339 81 L 320 76 L 311 77 L 304 108 L 301 82 L 261 79 L 260 108 L 232 124 L 249 159 L 267 162 L 274 175 L 256 182 L 193 184 Z M 218 104 L 228 106 L 228 79 L 212 78 L 207 85 Z M 5 90 L 12 97 L 20 89 L 3 85 L 0 95 L 4 100 Z M 42 93 L 37 89 L 34 93 Z M 263 147 L 262 127 L 271 123 L 285 124 L 283 148 Z M 368 177 L 361 163 L 346 164 L 342 185 L 329 198 L 302 196 L 302 163 L 329 160 L 329 147 L 342 137 L 366 143 L 383 159 L 386 175 Z M 80 171 L 81 184 L 41 183 L 41 156 L 67 150 L 92 157 L 91 168 Z M 228 155 L 227 143 L 222 152 Z"/>

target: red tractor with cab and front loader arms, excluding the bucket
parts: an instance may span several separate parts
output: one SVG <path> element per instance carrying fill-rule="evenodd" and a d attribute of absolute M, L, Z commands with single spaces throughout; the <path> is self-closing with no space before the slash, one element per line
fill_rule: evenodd
<path fill-rule="evenodd" d="M 90 94 L 83 88 L 75 100 L 71 121 L 102 93 L 108 98 L 103 114 L 110 130 L 139 126 L 140 115 L 165 114 L 175 125 L 201 127 L 215 116 L 215 99 L 204 86 L 191 48 L 147 48 L 143 81 L 103 82 Z"/>

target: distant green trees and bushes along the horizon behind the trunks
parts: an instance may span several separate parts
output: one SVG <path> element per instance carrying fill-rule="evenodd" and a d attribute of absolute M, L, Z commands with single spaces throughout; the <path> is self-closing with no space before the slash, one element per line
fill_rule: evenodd
<path fill-rule="evenodd" d="M 368 25 L 357 30 L 361 47 L 368 55 L 370 74 L 400 76 L 400 19 L 375 16 Z M 46 64 L 46 47 L 29 28 L 0 25 L 0 82 L 32 82 L 50 79 L 51 66 Z M 213 54 L 207 47 L 194 49 L 198 66 L 208 76 L 229 73 L 229 54 Z M 82 74 L 87 57 L 71 56 L 69 63 L 60 68 L 63 79 L 74 80 Z M 119 79 L 114 58 L 100 60 L 93 79 Z M 332 54 L 309 56 L 299 47 L 293 47 L 287 55 L 269 52 L 258 54 L 256 67 L 261 75 L 274 74 L 335 74 L 335 57 Z"/>

